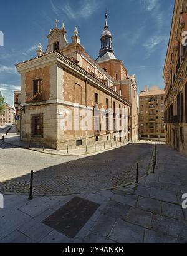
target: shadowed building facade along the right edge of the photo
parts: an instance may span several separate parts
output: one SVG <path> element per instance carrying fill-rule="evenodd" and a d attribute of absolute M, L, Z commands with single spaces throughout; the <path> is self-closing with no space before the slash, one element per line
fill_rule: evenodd
<path fill-rule="evenodd" d="M 187 155 L 187 1 L 176 0 L 166 54 L 166 142 Z"/>

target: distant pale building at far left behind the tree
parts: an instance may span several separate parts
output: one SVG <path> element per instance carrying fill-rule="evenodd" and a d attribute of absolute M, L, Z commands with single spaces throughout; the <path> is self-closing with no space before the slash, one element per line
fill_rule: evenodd
<path fill-rule="evenodd" d="M 0 126 L 14 125 L 14 115 L 14 108 L 6 104 L 4 112 L 0 115 Z"/>

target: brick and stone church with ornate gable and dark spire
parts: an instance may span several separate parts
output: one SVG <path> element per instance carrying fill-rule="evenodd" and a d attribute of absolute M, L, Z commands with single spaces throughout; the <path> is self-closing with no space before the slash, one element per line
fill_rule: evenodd
<path fill-rule="evenodd" d="M 137 83 L 115 57 L 107 14 L 96 61 L 80 44 L 77 28 L 71 43 L 66 33 L 56 21 L 46 51 L 39 44 L 36 58 L 16 65 L 21 140 L 57 150 L 137 140 Z"/>

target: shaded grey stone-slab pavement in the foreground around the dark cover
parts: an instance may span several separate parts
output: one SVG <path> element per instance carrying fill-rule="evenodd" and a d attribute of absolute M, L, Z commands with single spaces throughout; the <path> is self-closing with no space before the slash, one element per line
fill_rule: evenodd
<path fill-rule="evenodd" d="M 155 174 L 139 185 L 79 195 L 100 206 L 74 238 L 42 223 L 75 195 L 35 197 L 4 195 L 0 243 L 187 243 L 187 158 L 158 145 Z M 77 195 L 76 195 L 77 197 Z"/>

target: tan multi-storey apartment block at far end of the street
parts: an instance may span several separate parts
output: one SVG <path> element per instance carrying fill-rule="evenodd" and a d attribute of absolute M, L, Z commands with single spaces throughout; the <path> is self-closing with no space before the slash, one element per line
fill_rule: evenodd
<path fill-rule="evenodd" d="M 139 138 L 165 141 L 165 91 L 152 88 L 139 95 Z"/>

